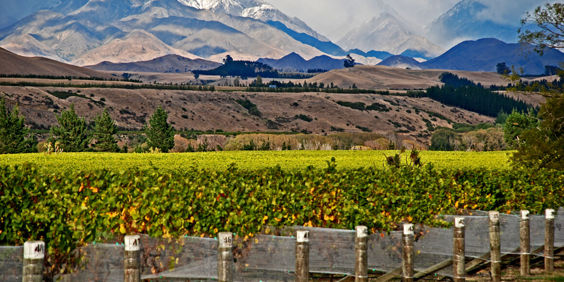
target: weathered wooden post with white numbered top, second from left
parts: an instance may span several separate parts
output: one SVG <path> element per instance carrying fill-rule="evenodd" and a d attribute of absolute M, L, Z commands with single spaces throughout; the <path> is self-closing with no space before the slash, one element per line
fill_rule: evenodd
<path fill-rule="evenodd" d="M 124 239 L 124 281 L 141 281 L 141 237 L 127 235 Z"/>

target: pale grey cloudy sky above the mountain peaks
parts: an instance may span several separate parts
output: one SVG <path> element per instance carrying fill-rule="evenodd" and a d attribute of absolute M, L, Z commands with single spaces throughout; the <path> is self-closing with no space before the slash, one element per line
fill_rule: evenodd
<path fill-rule="evenodd" d="M 296 16 L 312 29 L 336 42 L 347 31 L 380 14 L 395 10 L 406 21 L 424 27 L 460 0 L 267 0 L 288 16 Z M 523 12 L 543 0 L 479 0 L 488 9 L 483 17 L 519 25 Z M 551 2 L 556 2 L 550 0 Z M 390 9 L 391 8 L 391 9 Z"/>

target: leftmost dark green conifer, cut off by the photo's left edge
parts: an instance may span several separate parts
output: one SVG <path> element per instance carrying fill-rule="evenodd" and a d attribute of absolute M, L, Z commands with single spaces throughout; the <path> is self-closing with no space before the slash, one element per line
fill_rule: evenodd
<path fill-rule="evenodd" d="M 25 117 L 20 116 L 16 104 L 12 112 L 6 108 L 4 97 L 0 99 L 0 154 L 36 153 L 37 139 L 25 127 Z"/>

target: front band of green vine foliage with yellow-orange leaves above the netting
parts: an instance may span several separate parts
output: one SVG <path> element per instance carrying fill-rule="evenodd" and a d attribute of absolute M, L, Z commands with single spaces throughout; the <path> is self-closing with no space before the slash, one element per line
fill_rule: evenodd
<path fill-rule="evenodd" d="M 99 170 L 48 174 L 33 164 L 0 167 L 0 245 L 47 244 L 46 276 L 72 272 L 91 242 L 152 237 L 252 237 L 262 226 L 293 225 L 389 232 L 398 223 L 446 226 L 434 215 L 459 209 L 564 205 L 564 171 L 438 170 Z M 48 278 L 49 279 L 49 278 Z"/>

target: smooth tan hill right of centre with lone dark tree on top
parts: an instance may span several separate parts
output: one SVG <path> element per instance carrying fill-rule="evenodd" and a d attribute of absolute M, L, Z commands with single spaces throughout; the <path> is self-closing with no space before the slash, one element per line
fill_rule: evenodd
<path fill-rule="evenodd" d="M 443 72 L 451 72 L 459 77 L 466 77 L 474 83 L 484 86 L 507 85 L 497 73 L 492 72 L 465 72 L 462 70 L 443 69 L 401 69 L 381 65 L 356 65 L 354 68 L 333 69 L 329 72 L 318 74 L 307 82 L 323 82 L 325 85 L 333 82 L 342 88 L 349 88 L 354 83 L 361 89 L 395 89 L 413 90 L 426 89 L 435 85 L 442 85 L 439 76 Z"/>

